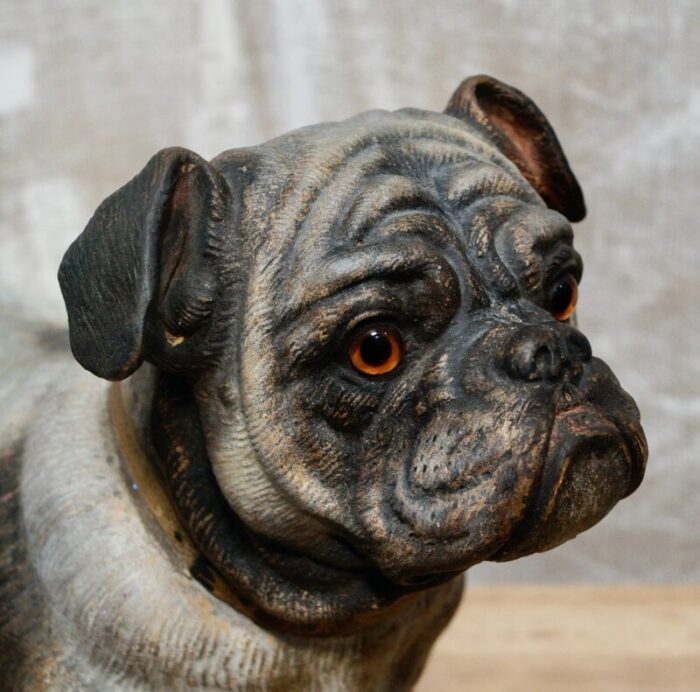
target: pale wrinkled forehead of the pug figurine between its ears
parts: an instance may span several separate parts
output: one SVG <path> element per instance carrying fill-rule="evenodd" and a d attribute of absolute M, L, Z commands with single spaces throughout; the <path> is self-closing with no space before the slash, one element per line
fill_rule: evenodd
<path fill-rule="evenodd" d="M 353 242 L 363 226 L 401 209 L 449 211 L 490 196 L 542 205 L 493 144 L 464 122 L 428 111 L 369 111 L 248 151 L 256 173 L 247 202 L 265 200 L 265 235 L 278 250 L 303 239 Z"/>

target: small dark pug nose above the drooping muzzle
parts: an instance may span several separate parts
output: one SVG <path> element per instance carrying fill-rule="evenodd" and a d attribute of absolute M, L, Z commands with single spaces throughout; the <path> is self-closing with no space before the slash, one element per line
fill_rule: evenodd
<path fill-rule="evenodd" d="M 591 359 L 591 345 L 569 325 L 520 327 L 506 347 L 506 370 L 520 380 L 576 381 L 583 363 Z"/>

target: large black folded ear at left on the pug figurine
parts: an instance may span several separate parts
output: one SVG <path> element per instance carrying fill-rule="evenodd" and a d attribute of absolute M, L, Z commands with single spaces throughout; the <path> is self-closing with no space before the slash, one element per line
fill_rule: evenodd
<path fill-rule="evenodd" d="M 206 321 L 218 288 L 210 248 L 229 198 L 206 161 L 172 148 L 102 202 L 58 272 L 84 368 L 123 379 L 152 355 L 147 344 L 178 345 Z M 147 334 L 147 316 L 160 336 Z"/>

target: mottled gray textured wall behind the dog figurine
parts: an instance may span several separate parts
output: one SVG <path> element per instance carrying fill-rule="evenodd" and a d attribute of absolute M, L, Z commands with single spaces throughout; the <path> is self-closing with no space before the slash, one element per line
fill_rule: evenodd
<path fill-rule="evenodd" d="M 474 580 L 700 577 L 697 0 L 1 0 L 0 35 L 0 298 L 53 321 L 63 250 L 160 147 L 441 109 L 479 72 L 534 97 L 588 200 L 579 321 L 651 463 L 599 527 Z"/>

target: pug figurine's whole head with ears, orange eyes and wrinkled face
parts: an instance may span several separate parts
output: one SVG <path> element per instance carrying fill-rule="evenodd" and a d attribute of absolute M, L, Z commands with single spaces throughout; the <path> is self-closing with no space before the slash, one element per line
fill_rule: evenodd
<path fill-rule="evenodd" d="M 366 113 L 211 164 L 166 151 L 64 260 L 76 356 L 111 379 L 147 358 L 164 399 L 191 392 L 161 413 L 201 439 L 164 445 L 171 494 L 215 566 L 288 619 L 546 550 L 641 481 L 638 411 L 572 325 L 584 207 L 556 137 L 488 78 L 446 113 Z"/>

